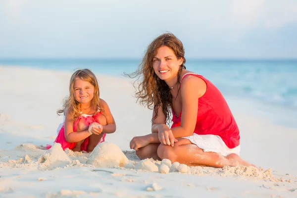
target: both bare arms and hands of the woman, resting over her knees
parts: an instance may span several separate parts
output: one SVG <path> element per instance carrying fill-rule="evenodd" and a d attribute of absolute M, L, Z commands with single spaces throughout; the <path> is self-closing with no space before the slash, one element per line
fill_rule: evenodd
<path fill-rule="evenodd" d="M 192 77 L 192 76 L 191 76 Z M 135 137 L 131 143 L 130 148 L 144 147 L 149 143 L 162 143 L 164 145 L 174 146 L 175 138 L 187 137 L 193 135 L 198 114 L 198 98 L 201 97 L 206 91 L 206 83 L 197 77 L 185 78 L 182 84 L 182 119 L 181 125 L 169 129 L 165 124 L 165 115 L 158 108 L 158 116 L 152 120 L 151 134 L 142 137 Z M 155 112 L 153 111 L 153 117 Z M 174 136 L 174 137 L 173 137 Z M 141 139 L 144 143 L 137 145 Z"/>

